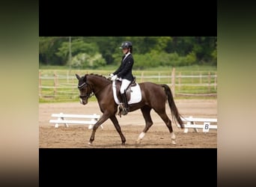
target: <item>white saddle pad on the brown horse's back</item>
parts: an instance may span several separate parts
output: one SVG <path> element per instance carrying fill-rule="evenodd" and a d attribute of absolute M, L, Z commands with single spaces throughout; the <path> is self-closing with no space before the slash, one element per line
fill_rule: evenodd
<path fill-rule="evenodd" d="M 135 83 L 135 84 L 136 84 L 135 86 L 131 87 L 131 99 L 129 99 L 128 105 L 141 101 L 141 88 L 139 87 L 138 83 Z M 115 81 L 112 82 L 112 88 L 113 88 L 113 95 L 114 95 L 115 103 L 117 103 L 119 105 L 121 102 L 119 102 L 119 100 L 118 100 Z"/>

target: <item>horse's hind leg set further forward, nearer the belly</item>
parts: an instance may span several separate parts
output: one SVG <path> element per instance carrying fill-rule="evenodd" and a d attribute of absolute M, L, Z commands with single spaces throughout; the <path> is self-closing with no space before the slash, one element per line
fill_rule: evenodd
<path fill-rule="evenodd" d="M 143 114 L 146 126 L 144 127 L 143 131 L 138 135 L 138 139 L 136 140 L 136 144 L 141 143 L 142 138 L 144 138 L 144 135 L 146 134 L 148 129 L 150 129 L 150 126 L 153 125 L 153 121 L 150 117 L 151 109 L 152 108 L 150 108 L 149 106 L 144 106 L 143 108 L 141 108 L 141 112 Z"/>

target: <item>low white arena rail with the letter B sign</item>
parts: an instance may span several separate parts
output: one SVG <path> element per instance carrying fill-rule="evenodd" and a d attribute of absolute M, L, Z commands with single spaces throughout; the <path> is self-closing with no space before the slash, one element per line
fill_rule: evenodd
<path fill-rule="evenodd" d="M 217 123 L 216 118 L 199 118 L 199 117 L 190 116 L 190 117 L 181 117 L 181 119 L 183 120 L 183 122 L 186 122 L 186 124 L 184 124 L 185 133 L 189 132 L 189 128 L 193 128 L 195 132 L 198 132 L 198 128 L 203 129 L 203 132 L 209 132 L 209 129 L 217 129 L 217 125 L 210 124 L 210 123 Z M 198 124 L 198 122 L 204 123 L 204 124 Z"/>

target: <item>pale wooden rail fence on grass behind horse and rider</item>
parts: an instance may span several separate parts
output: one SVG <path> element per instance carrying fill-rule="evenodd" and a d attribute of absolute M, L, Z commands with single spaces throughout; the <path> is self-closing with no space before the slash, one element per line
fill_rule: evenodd
<path fill-rule="evenodd" d="M 167 84 L 174 96 L 216 96 L 217 74 L 204 72 L 195 74 L 176 73 L 175 68 L 168 75 L 145 75 L 137 74 L 136 82 L 155 82 Z M 79 96 L 76 76 L 53 73 L 46 75 L 39 72 L 39 97 L 55 99 L 76 99 Z"/>

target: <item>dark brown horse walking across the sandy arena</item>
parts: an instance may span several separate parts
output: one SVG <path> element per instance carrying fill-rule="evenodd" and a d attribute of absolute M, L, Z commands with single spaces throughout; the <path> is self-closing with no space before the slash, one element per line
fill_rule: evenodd
<path fill-rule="evenodd" d="M 121 137 L 121 145 L 125 145 L 126 138 L 121 131 L 121 126 L 119 125 L 116 117 L 118 112 L 118 103 L 115 102 L 115 98 L 113 96 L 115 94 L 113 94 L 112 81 L 105 76 L 94 73 L 85 74 L 85 76 L 79 76 L 76 74 L 76 79 L 78 79 L 80 103 L 82 105 L 86 105 L 88 103 L 88 98 L 94 95 L 97 98 L 100 111 L 103 113 L 92 128 L 91 138 L 88 144 L 92 145 L 97 128 L 106 120 L 110 119 Z M 183 120 L 181 120 L 182 116 L 177 109 L 170 88 L 168 85 L 158 85 L 153 82 L 141 82 L 138 83 L 138 86 L 141 90 L 141 100 L 132 104 L 128 103 L 129 112 L 140 109 L 145 120 L 144 129 L 138 135 L 135 143 L 140 144 L 142 138 L 144 138 L 144 135 L 148 129 L 150 129 L 150 126 L 153 125 L 153 121 L 150 116 L 150 111 L 153 109 L 157 114 L 159 114 L 159 117 L 162 118 L 165 125 L 168 127 L 168 130 L 171 133 L 171 144 L 176 144 L 176 136 L 171 126 L 171 120 L 165 112 L 165 103 L 167 101 L 171 109 L 172 119 L 176 120 L 176 122 L 180 124 L 181 129 L 184 129 L 184 125 Z M 121 110 L 121 108 L 119 109 Z"/>

